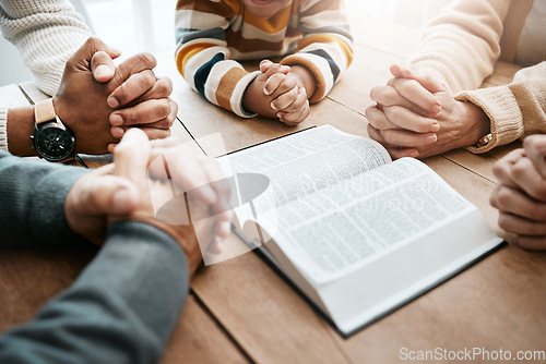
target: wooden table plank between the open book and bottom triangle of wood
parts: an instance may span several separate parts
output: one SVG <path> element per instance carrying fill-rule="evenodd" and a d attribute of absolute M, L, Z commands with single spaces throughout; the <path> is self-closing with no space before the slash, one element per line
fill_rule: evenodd
<path fill-rule="evenodd" d="M 337 333 L 256 254 L 201 269 L 191 287 L 257 363 L 348 363 Z"/>

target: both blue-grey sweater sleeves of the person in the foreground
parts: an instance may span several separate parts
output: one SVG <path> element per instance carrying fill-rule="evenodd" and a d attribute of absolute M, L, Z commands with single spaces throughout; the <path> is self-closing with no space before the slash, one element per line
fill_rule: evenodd
<path fill-rule="evenodd" d="M 0 231 L 13 242 L 69 242 L 64 198 L 85 173 L 0 151 Z M 154 363 L 188 292 L 186 256 L 143 222 L 112 225 L 106 243 L 66 292 L 0 338 L 0 363 Z"/>

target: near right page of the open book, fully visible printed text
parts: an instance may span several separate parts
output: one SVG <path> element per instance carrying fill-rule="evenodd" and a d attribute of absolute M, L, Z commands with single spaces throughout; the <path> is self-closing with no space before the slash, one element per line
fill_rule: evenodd
<path fill-rule="evenodd" d="M 426 165 L 404 158 L 262 214 L 260 225 L 320 284 L 473 210 Z"/>

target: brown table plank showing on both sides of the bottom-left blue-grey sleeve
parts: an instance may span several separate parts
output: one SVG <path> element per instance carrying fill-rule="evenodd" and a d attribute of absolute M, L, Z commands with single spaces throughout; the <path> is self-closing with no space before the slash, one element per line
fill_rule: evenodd
<path fill-rule="evenodd" d="M 96 247 L 3 250 L 0 255 L 0 332 L 34 318 L 50 299 L 72 284 Z M 244 363 L 248 360 L 190 295 L 162 363 Z"/>

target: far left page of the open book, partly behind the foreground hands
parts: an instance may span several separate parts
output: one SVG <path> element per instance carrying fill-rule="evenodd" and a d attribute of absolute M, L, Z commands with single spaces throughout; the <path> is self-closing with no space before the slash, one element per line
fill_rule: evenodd
<path fill-rule="evenodd" d="M 253 202 L 258 214 L 298 201 L 390 161 L 389 154 L 377 142 L 329 125 L 218 158 L 227 175 L 262 173 L 270 179 L 268 193 Z M 248 217 L 245 214 L 244 220 Z"/>

